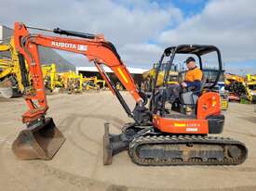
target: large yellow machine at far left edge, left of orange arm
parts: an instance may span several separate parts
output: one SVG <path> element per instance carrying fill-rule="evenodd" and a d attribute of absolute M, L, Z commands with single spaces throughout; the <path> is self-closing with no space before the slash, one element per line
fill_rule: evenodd
<path fill-rule="evenodd" d="M 20 96 L 24 90 L 18 53 L 14 47 L 13 37 L 9 44 L 0 45 L 0 52 L 7 55 L 0 59 L 0 95 L 7 98 Z"/>

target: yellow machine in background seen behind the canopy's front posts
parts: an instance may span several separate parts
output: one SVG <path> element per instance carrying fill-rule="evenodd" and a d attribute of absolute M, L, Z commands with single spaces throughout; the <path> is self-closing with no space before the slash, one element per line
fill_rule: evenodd
<path fill-rule="evenodd" d="M 166 63 L 163 63 L 161 66 L 161 69 L 159 70 L 158 77 L 156 80 L 156 86 L 161 86 L 163 83 L 166 65 L 167 65 Z M 155 70 L 157 67 L 158 67 L 158 64 L 155 63 L 153 65 L 153 69 L 147 70 L 142 73 L 142 90 L 144 92 L 152 91 L 152 87 L 154 86 L 154 81 L 155 81 Z M 178 83 L 178 71 L 176 71 L 175 69 L 171 69 L 169 71 L 168 78 L 169 78 L 168 84 Z"/>

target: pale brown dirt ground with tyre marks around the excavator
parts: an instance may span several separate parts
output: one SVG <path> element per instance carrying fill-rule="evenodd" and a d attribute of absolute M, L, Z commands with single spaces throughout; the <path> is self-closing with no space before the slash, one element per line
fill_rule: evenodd
<path fill-rule="evenodd" d="M 130 106 L 133 100 L 126 93 Z M 22 98 L 0 99 L 0 187 L 5 191 L 56 190 L 256 190 L 256 113 L 230 104 L 222 136 L 244 142 L 249 158 L 238 166 L 141 167 L 127 152 L 102 165 L 103 123 L 119 133 L 128 121 L 110 92 L 48 96 L 49 111 L 66 142 L 54 159 L 18 160 L 11 144 L 24 125 Z M 132 108 L 131 107 L 131 108 Z"/>

